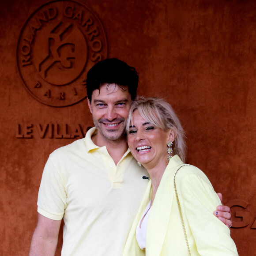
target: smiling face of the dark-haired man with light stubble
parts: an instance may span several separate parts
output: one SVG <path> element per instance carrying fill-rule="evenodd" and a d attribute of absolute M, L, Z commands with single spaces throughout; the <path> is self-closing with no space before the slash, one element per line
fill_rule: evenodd
<path fill-rule="evenodd" d="M 98 136 L 105 140 L 123 139 L 125 126 L 132 103 L 128 87 L 122 87 L 111 83 L 103 83 L 100 90 L 94 90 L 91 103 L 88 100 Z"/>

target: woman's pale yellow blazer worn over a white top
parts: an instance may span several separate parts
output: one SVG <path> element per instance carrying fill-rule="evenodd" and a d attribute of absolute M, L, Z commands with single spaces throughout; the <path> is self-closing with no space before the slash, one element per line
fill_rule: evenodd
<path fill-rule="evenodd" d="M 173 183 L 181 165 L 183 162 L 175 155 L 166 167 L 151 207 L 144 251 L 136 241 L 136 227 L 150 201 L 152 183 L 149 181 L 123 256 L 188 255 Z M 195 166 L 184 166 L 175 181 L 191 255 L 238 255 L 229 228 L 213 215 L 221 202 L 206 175 Z"/>

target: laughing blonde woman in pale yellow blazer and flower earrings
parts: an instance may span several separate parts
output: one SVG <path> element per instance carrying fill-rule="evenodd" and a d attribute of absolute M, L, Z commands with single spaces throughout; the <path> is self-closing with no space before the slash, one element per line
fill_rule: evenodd
<path fill-rule="evenodd" d="M 151 180 L 123 256 L 238 255 L 229 228 L 212 215 L 221 202 L 210 181 L 181 161 L 184 131 L 171 106 L 155 98 L 134 102 L 127 133 Z"/>

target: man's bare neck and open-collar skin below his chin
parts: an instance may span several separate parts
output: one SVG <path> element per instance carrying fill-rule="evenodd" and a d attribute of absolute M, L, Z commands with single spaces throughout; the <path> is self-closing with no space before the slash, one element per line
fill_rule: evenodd
<path fill-rule="evenodd" d="M 91 139 L 98 147 L 106 146 L 109 155 L 115 162 L 115 165 L 117 165 L 128 149 L 127 139 L 125 136 L 117 140 L 108 140 L 102 137 L 100 133 L 97 133 L 96 135 L 93 135 Z"/>

